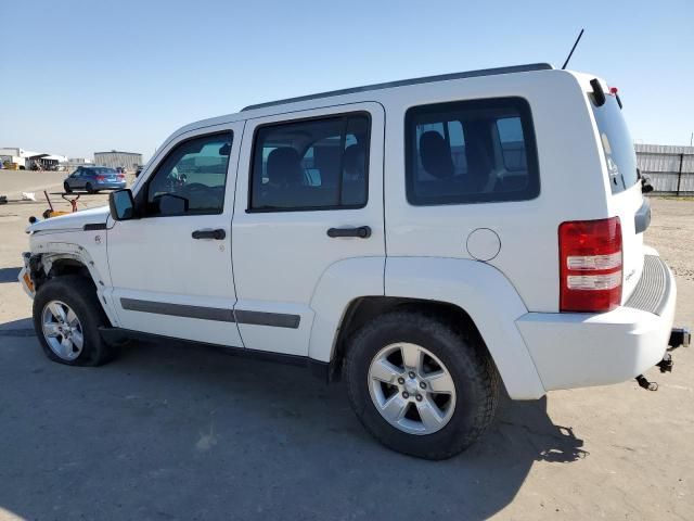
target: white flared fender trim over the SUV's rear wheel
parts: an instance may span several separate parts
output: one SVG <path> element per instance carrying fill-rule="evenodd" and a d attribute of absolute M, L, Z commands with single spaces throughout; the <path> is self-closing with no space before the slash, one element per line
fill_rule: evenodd
<path fill-rule="evenodd" d="M 497 268 L 468 259 L 388 257 L 384 274 L 382 295 L 361 293 L 343 300 L 336 316 L 334 310 L 331 316 L 314 308 L 317 323 L 323 331 L 316 338 L 311 334 L 309 356 L 330 361 L 333 376 L 339 371 L 354 331 L 380 314 L 409 307 L 437 313 L 479 334 L 512 398 L 535 399 L 545 394 L 516 327 L 516 320 L 528 313 L 527 308 Z M 339 292 L 331 295 L 335 301 L 343 296 Z M 336 305 L 333 303 L 333 307 Z M 332 330 L 332 336 L 325 334 L 326 329 Z"/>

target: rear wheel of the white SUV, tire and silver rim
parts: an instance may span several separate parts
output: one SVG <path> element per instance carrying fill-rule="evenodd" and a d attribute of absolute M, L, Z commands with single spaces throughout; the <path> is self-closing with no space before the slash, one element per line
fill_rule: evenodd
<path fill-rule="evenodd" d="M 387 447 L 447 459 L 493 420 L 499 376 L 476 332 L 416 312 L 364 326 L 348 346 L 345 380 L 364 428 Z"/>

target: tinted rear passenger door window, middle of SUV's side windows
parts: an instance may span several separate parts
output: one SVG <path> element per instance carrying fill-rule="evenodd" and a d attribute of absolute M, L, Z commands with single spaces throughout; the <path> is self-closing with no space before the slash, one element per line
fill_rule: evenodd
<path fill-rule="evenodd" d="M 254 141 L 249 211 L 362 207 L 369 135 L 364 114 L 260 127 Z"/>

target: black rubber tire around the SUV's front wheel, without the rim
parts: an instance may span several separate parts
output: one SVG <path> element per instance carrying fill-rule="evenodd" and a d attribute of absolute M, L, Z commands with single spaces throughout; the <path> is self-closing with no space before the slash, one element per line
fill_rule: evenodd
<path fill-rule="evenodd" d="M 61 301 L 68 305 L 77 315 L 82 329 L 83 346 L 79 356 L 66 360 L 57 356 L 49 346 L 42 328 L 43 308 L 51 301 Z M 34 329 L 46 355 L 53 361 L 67 366 L 101 366 L 112 360 L 117 350 L 107 345 L 99 328 L 110 326 L 93 283 L 85 277 L 68 275 L 50 279 L 36 293 L 34 298 Z"/>

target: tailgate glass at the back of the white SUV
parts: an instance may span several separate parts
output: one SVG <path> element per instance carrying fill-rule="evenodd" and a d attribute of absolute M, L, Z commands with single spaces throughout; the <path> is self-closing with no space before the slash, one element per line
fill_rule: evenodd
<path fill-rule="evenodd" d="M 602 106 L 596 106 L 594 101 L 591 105 L 607 163 L 612 193 L 619 193 L 633 187 L 639 180 L 637 153 L 616 97 L 605 98 Z"/>

